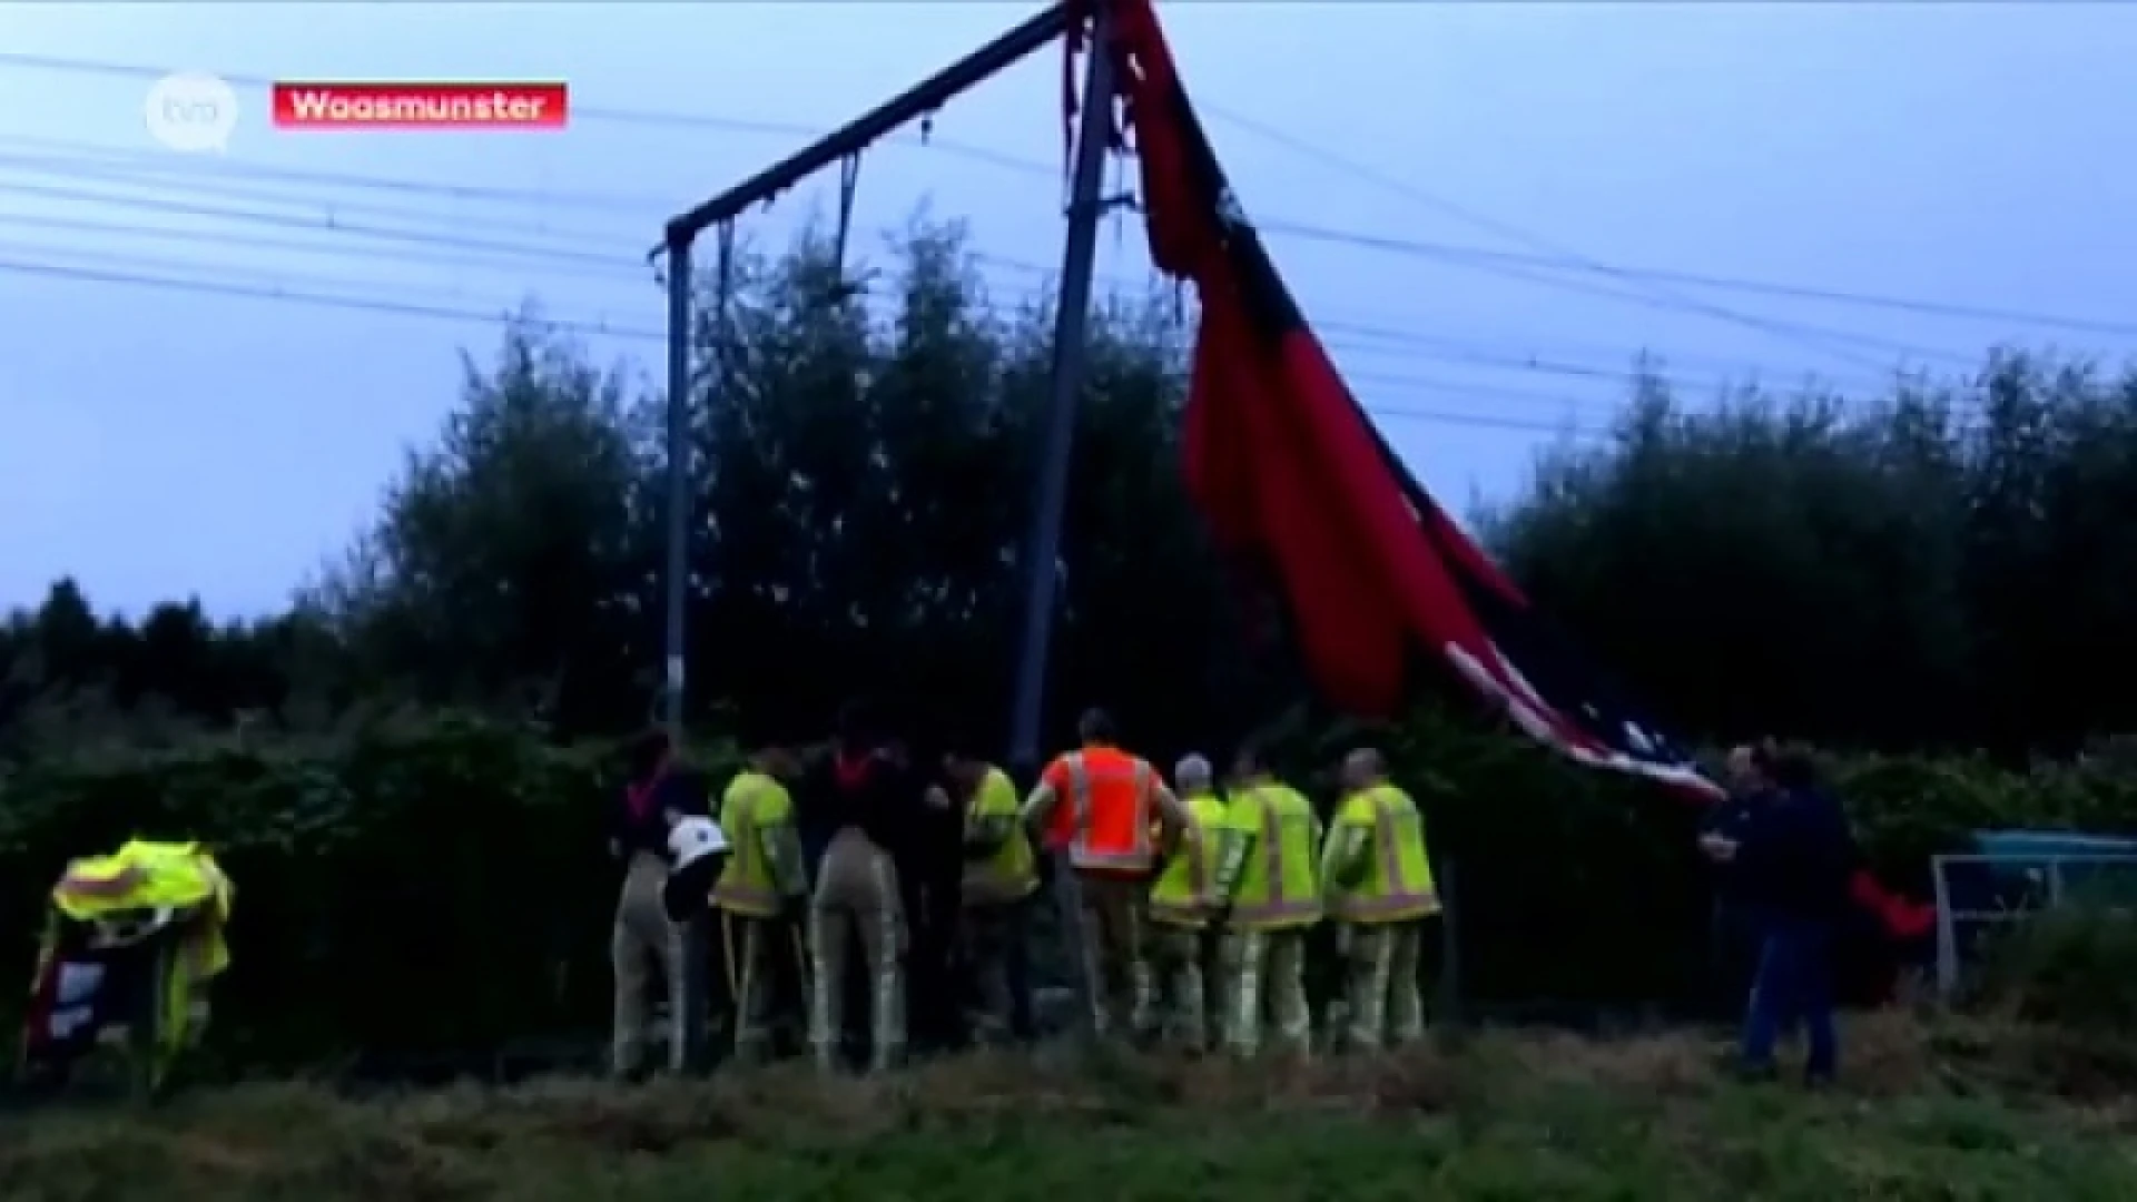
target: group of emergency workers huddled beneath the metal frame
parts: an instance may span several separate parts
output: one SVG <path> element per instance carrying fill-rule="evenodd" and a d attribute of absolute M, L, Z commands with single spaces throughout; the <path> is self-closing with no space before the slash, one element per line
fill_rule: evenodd
<path fill-rule="evenodd" d="M 626 864 L 615 1072 L 643 1069 L 654 975 L 667 982 L 671 1067 L 701 1063 L 714 941 L 739 1061 L 774 1054 L 791 1016 L 825 1069 L 855 1044 L 889 1069 L 915 1044 L 1030 1037 L 1032 918 L 1049 866 L 1066 873 L 1060 915 L 1101 1037 L 1254 1054 L 1274 1035 L 1308 1050 L 1306 933 L 1325 920 L 1344 962 L 1342 1014 L 1329 1016 L 1340 1042 L 1423 1035 L 1419 952 L 1440 907 L 1423 817 L 1378 751 L 1344 757 L 1342 800 L 1323 821 L 1252 744 L 1222 776 L 1188 755 L 1167 781 L 1120 746 L 1105 712 L 1083 714 L 1077 734 L 1019 793 L 972 749 L 915 757 L 848 706 L 827 753 L 750 740 L 718 800 L 675 768 L 665 736 L 648 736 L 611 828 Z M 677 823 L 697 819 L 724 843 L 709 885 L 669 853 Z"/>

